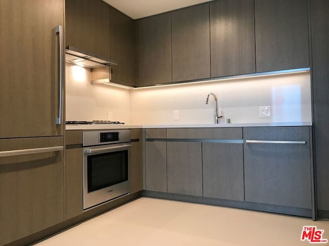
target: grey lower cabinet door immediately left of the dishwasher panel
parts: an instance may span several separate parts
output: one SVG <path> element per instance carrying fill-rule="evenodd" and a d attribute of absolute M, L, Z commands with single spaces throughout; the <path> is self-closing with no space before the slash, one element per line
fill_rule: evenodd
<path fill-rule="evenodd" d="M 204 197 L 244 200 L 243 145 L 202 143 Z"/>

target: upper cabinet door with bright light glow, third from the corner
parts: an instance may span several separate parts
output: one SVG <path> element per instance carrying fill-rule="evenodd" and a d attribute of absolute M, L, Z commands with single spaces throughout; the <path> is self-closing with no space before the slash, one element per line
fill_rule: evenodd
<path fill-rule="evenodd" d="M 211 77 L 255 73 L 253 0 L 210 3 Z"/>

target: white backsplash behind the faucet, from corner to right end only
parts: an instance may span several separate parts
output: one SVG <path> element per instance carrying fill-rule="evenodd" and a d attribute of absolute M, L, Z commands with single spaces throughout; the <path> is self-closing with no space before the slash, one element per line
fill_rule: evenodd
<path fill-rule="evenodd" d="M 214 99 L 206 105 L 209 92 L 232 123 L 312 121 L 310 75 L 304 72 L 132 90 L 131 124 L 214 123 Z M 259 117 L 260 106 L 271 106 L 271 117 Z"/>

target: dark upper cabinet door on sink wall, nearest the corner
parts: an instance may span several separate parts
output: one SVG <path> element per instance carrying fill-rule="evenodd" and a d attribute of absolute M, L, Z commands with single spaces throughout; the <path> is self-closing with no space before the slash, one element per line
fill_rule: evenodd
<path fill-rule="evenodd" d="M 139 86 L 172 81 L 171 13 L 138 20 Z"/>

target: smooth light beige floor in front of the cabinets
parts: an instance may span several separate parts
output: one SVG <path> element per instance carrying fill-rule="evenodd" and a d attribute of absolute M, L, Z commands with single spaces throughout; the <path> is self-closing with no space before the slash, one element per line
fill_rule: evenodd
<path fill-rule="evenodd" d="M 35 245 L 312 245 L 303 226 L 329 239 L 329 220 L 142 197 Z"/>

